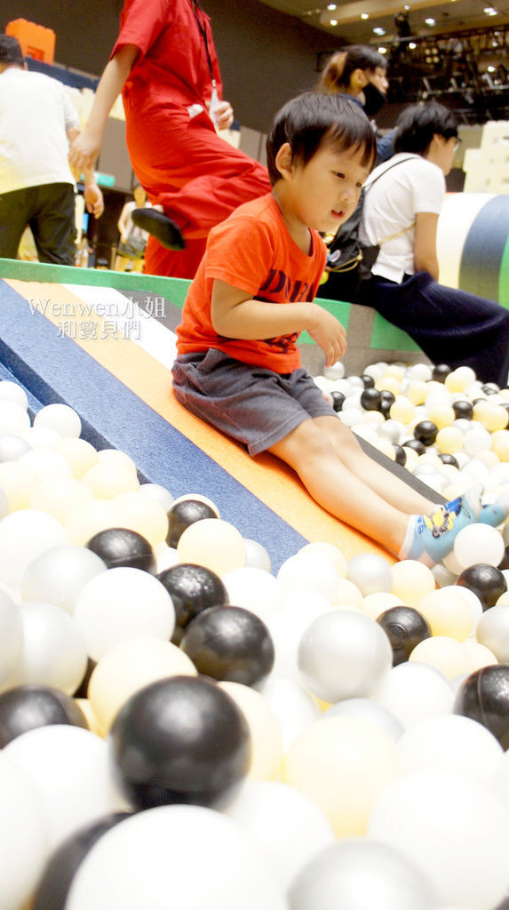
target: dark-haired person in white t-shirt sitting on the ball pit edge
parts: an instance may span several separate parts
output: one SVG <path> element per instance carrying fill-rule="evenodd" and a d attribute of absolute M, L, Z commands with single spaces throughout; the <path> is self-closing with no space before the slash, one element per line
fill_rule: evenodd
<path fill-rule="evenodd" d="M 454 114 L 443 105 L 409 106 L 400 115 L 396 154 L 365 183 L 359 236 L 381 246 L 355 302 L 404 329 L 435 364 L 465 364 L 504 387 L 509 310 L 438 284 L 436 230 L 457 144 Z"/>

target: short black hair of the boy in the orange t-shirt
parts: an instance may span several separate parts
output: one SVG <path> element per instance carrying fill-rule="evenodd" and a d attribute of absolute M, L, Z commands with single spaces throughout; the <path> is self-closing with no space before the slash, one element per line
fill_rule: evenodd
<path fill-rule="evenodd" d="M 277 112 L 267 136 L 267 168 L 271 184 L 281 179 L 275 157 L 289 143 L 294 160 L 306 165 L 324 142 L 338 151 L 362 149 L 364 167 L 373 167 L 376 138 L 364 111 L 342 95 L 304 92 Z"/>

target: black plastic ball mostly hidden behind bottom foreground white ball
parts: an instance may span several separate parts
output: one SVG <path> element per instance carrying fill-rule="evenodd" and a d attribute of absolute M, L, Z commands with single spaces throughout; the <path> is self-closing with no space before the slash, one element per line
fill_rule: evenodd
<path fill-rule="evenodd" d="M 30 904 L 31 910 L 65 910 L 69 889 L 86 854 L 106 831 L 129 818 L 130 814 L 116 812 L 106 815 L 66 838 L 45 865 L 43 877 Z"/>

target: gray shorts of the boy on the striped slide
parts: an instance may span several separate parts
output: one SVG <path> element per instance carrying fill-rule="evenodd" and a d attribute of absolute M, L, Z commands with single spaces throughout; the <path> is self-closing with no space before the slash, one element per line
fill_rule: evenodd
<path fill-rule="evenodd" d="M 336 417 L 305 369 L 274 373 L 223 351 L 183 354 L 173 366 L 175 398 L 258 455 L 315 417 Z"/>

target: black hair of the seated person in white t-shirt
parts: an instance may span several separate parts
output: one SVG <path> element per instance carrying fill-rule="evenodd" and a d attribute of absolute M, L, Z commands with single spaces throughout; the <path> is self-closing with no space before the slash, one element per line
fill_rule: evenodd
<path fill-rule="evenodd" d="M 452 111 L 436 101 L 405 107 L 396 123 L 394 150 L 425 155 L 435 133 L 445 139 L 458 135 L 457 120 Z"/>

